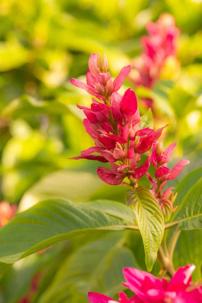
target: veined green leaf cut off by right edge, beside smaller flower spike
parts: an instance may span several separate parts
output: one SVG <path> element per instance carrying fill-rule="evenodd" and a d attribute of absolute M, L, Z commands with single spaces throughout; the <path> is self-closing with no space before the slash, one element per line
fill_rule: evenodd
<path fill-rule="evenodd" d="M 202 228 L 202 177 L 189 189 L 178 208 L 177 219 L 181 229 Z"/>

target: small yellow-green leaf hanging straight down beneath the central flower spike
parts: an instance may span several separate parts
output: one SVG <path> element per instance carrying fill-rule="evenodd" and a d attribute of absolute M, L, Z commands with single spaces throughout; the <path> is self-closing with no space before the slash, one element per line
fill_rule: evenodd
<path fill-rule="evenodd" d="M 135 212 L 144 244 L 145 263 L 148 271 L 151 271 L 164 235 L 163 213 L 158 201 L 145 187 L 128 190 L 126 203 Z"/>

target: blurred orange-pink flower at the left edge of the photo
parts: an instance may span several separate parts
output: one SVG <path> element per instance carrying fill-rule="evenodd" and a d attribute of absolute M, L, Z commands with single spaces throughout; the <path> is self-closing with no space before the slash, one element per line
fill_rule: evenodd
<path fill-rule="evenodd" d="M 0 203 L 0 228 L 13 219 L 17 211 L 17 205 L 10 205 L 6 201 Z"/>

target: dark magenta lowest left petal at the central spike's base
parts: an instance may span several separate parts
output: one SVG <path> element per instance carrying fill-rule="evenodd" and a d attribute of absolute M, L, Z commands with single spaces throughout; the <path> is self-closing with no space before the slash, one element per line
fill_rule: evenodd
<path fill-rule="evenodd" d="M 98 167 L 97 175 L 103 182 L 110 185 L 119 185 L 123 182 L 123 179 L 125 178 L 124 173 L 115 173 L 105 167 Z"/>

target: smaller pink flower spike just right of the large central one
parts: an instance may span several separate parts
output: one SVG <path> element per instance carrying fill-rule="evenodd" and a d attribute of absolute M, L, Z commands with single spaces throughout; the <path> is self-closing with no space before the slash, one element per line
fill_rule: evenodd
<path fill-rule="evenodd" d="M 175 148 L 176 144 L 177 143 L 170 144 L 164 151 L 162 141 L 154 142 L 152 147 L 151 160 L 155 167 L 155 179 L 151 178 L 148 172 L 146 173 L 148 180 L 153 186 L 151 192 L 159 201 L 165 221 L 168 221 L 170 219 L 171 213 L 176 209 L 173 208 L 173 203 L 177 194 L 174 195 L 172 191 L 174 187 L 169 187 L 164 192 L 162 192 L 162 190 L 164 189 L 168 180 L 177 178 L 177 176 L 181 173 L 183 167 L 189 164 L 188 160 L 182 159 L 173 167 L 173 169 L 170 170 L 167 167 L 167 163 L 171 158 L 173 149 Z"/>

